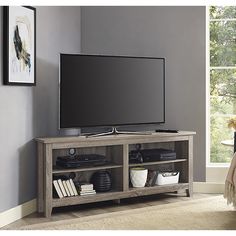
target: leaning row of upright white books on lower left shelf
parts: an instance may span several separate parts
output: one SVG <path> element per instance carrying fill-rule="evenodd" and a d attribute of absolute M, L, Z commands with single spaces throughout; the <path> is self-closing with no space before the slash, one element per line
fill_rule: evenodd
<path fill-rule="evenodd" d="M 78 191 L 72 179 L 53 180 L 55 192 L 59 198 L 77 196 Z"/>

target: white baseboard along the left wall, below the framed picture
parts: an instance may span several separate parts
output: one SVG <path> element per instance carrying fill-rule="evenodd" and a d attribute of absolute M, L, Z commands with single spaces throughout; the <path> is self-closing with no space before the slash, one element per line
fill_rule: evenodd
<path fill-rule="evenodd" d="M 0 228 L 36 211 L 36 199 L 0 213 Z"/>

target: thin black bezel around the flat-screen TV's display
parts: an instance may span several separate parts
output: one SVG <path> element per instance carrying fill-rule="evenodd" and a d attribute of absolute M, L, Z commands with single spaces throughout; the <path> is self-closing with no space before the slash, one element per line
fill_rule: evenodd
<path fill-rule="evenodd" d="M 143 122 L 143 123 L 122 123 L 122 124 L 106 124 L 106 125 L 87 125 L 78 127 L 61 127 L 61 58 L 62 56 L 91 56 L 91 57 L 110 57 L 110 58 L 144 58 L 144 59 L 161 59 L 163 60 L 163 121 L 156 122 Z M 165 82 L 166 80 L 166 58 L 165 57 L 146 57 L 146 56 L 126 56 L 126 55 L 99 55 L 99 54 L 70 54 L 70 53 L 60 53 L 59 55 L 59 130 L 61 129 L 80 129 L 80 128 L 109 128 L 109 127 L 122 127 L 122 126 L 139 126 L 139 125 L 158 125 L 164 124 L 166 122 L 166 91 Z"/>

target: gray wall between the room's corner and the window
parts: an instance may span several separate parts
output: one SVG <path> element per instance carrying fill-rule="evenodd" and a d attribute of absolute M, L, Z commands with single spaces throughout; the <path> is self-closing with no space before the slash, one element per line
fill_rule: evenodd
<path fill-rule="evenodd" d="M 166 57 L 165 128 L 193 130 L 205 181 L 205 7 L 82 7 L 82 52 Z"/>

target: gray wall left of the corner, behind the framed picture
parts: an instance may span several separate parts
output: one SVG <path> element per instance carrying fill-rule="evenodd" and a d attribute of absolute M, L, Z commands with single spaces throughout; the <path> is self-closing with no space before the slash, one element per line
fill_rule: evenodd
<path fill-rule="evenodd" d="M 36 9 L 37 86 L 3 85 L 0 63 L 0 212 L 36 197 L 33 139 L 58 133 L 59 53 L 80 52 L 80 7 Z"/>

